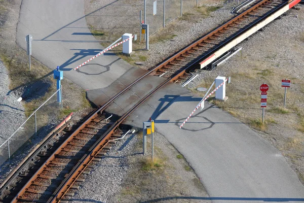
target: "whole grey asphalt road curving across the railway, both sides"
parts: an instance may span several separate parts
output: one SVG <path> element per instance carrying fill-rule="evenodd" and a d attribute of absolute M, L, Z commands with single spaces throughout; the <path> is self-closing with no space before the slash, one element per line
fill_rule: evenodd
<path fill-rule="evenodd" d="M 106 55 L 80 72 L 70 70 L 103 49 L 93 36 L 84 33 L 89 29 L 83 0 L 23 1 L 17 42 L 25 48 L 24 37 L 32 35 L 33 56 L 50 69 L 61 65 L 64 77 L 92 90 L 88 93 L 98 103 L 129 83 L 132 79 L 126 78 L 136 69 Z M 149 79 L 144 87 L 148 91 L 157 82 Z M 133 88 L 112 106 L 112 111 L 123 114 L 131 105 L 126 101 L 134 94 L 143 96 L 140 88 Z M 206 103 L 204 111 L 178 129 L 200 99 L 171 84 L 148 99 L 126 123 L 141 127 L 142 121 L 155 119 L 157 131 L 184 155 L 213 202 L 304 202 L 304 186 L 281 153 L 229 114 Z M 187 197 L 191 198 L 195 202 L 205 199 Z"/>

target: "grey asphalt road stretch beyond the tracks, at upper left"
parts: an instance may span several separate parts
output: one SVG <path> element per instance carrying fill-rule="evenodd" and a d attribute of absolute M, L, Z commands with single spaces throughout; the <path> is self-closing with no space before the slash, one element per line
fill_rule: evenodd
<path fill-rule="evenodd" d="M 25 36 L 31 35 L 32 56 L 50 69 L 84 89 L 110 85 L 132 65 L 112 53 L 105 53 L 82 69 L 73 68 L 104 49 L 91 35 L 84 16 L 84 0 L 23 1 L 17 26 L 17 43 L 26 49 Z"/>

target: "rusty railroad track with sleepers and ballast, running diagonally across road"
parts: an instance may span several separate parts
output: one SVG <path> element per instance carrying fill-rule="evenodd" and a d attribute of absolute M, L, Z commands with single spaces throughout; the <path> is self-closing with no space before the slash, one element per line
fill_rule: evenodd
<path fill-rule="evenodd" d="M 73 195 L 73 192 L 78 189 L 79 182 L 83 181 L 83 174 L 88 173 L 90 168 L 94 167 L 94 162 L 99 161 L 105 153 L 104 150 L 115 143 L 111 140 L 121 136 L 122 131 L 118 129 L 121 123 L 151 95 L 169 82 L 183 83 L 191 76 L 190 70 L 197 67 L 206 68 L 212 60 L 216 59 L 214 56 L 219 50 L 233 48 L 231 43 L 241 38 L 248 30 L 258 27 L 259 23 L 269 19 L 286 6 L 290 4 L 294 6 L 298 2 L 299 0 L 260 1 L 153 67 L 92 113 L 77 129 L 72 129 L 70 136 L 58 149 L 52 154 L 46 154 L 48 159 L 16 193 L 12 202 L 64 202 L 67 196 Z M 136 105 L 122 117 L 107 119 L 105 109 L 148 75 L 166 79 L 138 100 Z"/>

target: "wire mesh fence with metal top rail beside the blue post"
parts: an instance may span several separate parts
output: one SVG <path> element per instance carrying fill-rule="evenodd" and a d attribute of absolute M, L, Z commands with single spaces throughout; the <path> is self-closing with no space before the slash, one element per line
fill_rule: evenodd
<path fill-rule="evenodd" d="M 22 146 L 31 144 L 40 133 L 48 134 L 52 129 L 45 129 L 50 121 L 55 120 L 62 110 L 62 91 L 58 89 L 39 108 L 37 108 L 24 123 L 0 146 L 0 165 L 10 159 Z M 61 103 L 57 101 L 61 94 Z M 57 95 L 57 96 L 56 96 Z"/>

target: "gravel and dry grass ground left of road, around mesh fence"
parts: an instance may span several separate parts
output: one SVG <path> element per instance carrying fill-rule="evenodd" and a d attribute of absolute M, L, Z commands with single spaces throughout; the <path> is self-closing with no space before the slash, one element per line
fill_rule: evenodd
<path fill-rule="evenodd" d="M 33 110 L 56 91 L 53 70 L 32 57 L 29 71 L 28 56 L 25 50 L 16 44 L 21 3 L 14 0 L 0 1 L 0 145 L 18 129 Z M 48 125 L 37 136 L 32 137 L 21 151 L 11 154 L 11 160 L 0 167 L 0 182 L 64 116 L 70 112 L 78 112 L 72 119 L 79 121 L 84 112 L 92 111 L 84 89 L 67 79 L 62 80 L 62 86 L 63 111 L 60 116 L 50 118 Z M 41 94 L 36 94 L 37 92 Z M 20 96 L 24 99 L 18 102 Z M 13 139 L 18 138 L 15 136 Z"/>

